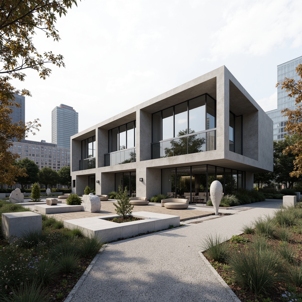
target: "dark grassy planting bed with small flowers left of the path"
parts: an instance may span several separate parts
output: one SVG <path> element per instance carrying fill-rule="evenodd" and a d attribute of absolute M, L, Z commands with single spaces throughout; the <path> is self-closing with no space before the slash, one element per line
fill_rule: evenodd
<path fill-rule="evenodd" d="M 1 213 L 20 210 L 29 209 L 0 200 Z M 47 215 L 42 232 L 25 232 L 11 244 L 1 234 L 0 301 L 63 301 L 102 246 Z"/>

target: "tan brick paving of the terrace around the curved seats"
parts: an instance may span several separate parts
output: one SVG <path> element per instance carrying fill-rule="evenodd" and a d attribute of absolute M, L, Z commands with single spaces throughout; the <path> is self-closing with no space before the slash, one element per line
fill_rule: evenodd
<path fill-rule="evenodd" d="M 153 212 L 160 214 L 169 214 L 180 216 L 180 221 L 189 220 L 204 216 L 213 215 L 214 212 L 202 211 L 201 208 L 189 207 L 187 209 L 182 210 L 172 210 L 166 209 L 165 207 L 161 207 L 159 204 L 148 204 L 145 206 L 134 206 L 133 212 Z M 49 216 L 55 217 L 59 220 L 69 220 L 69 219 L 78 219 L 78 218 L 86 218 L 86 217 L 95 217 L 95 216 L 103 216 L 116 214 L 115 207 L 112 201 L 102 201 L 101 202 L 101 211 L 98 213 L 89 213 L 89 212 L 71 212 L 71 213 L 59 213 L 59 214 L 50 214 Z"/>

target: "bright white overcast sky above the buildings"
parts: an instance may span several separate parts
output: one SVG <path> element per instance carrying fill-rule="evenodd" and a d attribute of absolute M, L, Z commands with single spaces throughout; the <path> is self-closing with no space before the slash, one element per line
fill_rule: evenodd
<path fill-rule="evenodd" d="M 35 45 L 65 58 L 43 81 L 26 71 L 30 140 L 51 142 L 51 111 L 79 112 L 79 131 L 225 65 L 264 111 L 277 108 L 277 65 L 302 55 L 300 0 L 85 0 L 59 18 L 61 41 Z"/>

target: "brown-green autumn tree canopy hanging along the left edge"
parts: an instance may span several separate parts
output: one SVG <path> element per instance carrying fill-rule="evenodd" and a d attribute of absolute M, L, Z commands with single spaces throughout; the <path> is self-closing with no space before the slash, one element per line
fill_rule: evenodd
<path fill-rule="evenodd" d="M 40 78 L 46 79 L 51 73 L 50 64 L 64 66 L 61 54 L 38 52 L 33 37 L 41 31 L 58 41 L 56 15 L 65 15 L 73 4 L 76 5 L 76 0 L 0 1 L 0 183 L 12 185 L 16 176 L 26 176 L 25 169 L 14 165 L 19 156 L 9 151 L 11 140 L 20 141 L 40 127 L 38 119 L 27 124 L 12 123 L 13 107 L 20 106 L 14 94 L 31 96 L 31 93 L 25 88 L 15 88 L 10 82 L 12 79 L 24 81 L 26 69 L 36 70 Z"/>

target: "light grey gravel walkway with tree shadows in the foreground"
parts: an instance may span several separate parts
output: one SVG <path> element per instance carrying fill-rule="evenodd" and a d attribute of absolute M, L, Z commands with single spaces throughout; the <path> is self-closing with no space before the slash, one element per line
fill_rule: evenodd
<path fill-rule="evenodd" d="M 229 239 L 280 204 L 266 200 L 239 206 L 223 210 L 233 215 L 188 220 L 180 228 L 108 244 L 65 301 L 239 301 L 199 255 L 202 240 L 216 233 Z"/>

